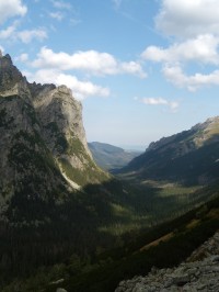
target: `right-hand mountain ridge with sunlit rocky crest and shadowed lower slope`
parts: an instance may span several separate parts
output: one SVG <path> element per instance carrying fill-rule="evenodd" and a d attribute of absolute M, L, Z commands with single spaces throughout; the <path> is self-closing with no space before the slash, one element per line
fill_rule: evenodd
<path fill-rule="evenodd" d="M 151 143 L 122 172 L 140 179 L 205 184 L 218 179 L 219 116 Z"/>

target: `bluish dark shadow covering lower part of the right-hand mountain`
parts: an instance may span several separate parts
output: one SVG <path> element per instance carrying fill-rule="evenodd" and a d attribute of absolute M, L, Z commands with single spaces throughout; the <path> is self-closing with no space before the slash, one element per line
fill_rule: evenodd
<path fill-rule="evenodd" d="M 148 150 L 114 173 L 132 173 L 140 180 L 166 180 L 184 186 L 209 184 L 219 173 L 218 141 L 219 135 L 215 135 L 206 145 L 183 155 L 171 147 Z"/>

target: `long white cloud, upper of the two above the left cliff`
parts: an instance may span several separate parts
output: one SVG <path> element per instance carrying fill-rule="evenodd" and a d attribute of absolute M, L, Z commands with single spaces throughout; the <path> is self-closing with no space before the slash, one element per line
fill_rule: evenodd
<path fill-rule="evenodd" d="M 55 68 L 59 70 L 85 70 L 89 74 L 104 76 L 116 74 L 132 74 L 146 77 L 141 66 L 136 61 L 120 63 L 108 53 L 96 50 L 77 52 L 72 55 L 67 53 L 54 53 L 51 49 L 43 47 L 33 61 L 37 68 Z"/>

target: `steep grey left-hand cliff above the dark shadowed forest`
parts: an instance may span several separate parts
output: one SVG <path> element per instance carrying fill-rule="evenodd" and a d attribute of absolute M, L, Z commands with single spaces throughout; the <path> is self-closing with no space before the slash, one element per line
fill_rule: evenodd
<path fill-rule="evenodd" d="M 28 83 L 0 56 L 0 207 L 11 200 L 59 200 L 107 175 L 88 149 L 82 106 L 71 91 Z"/>

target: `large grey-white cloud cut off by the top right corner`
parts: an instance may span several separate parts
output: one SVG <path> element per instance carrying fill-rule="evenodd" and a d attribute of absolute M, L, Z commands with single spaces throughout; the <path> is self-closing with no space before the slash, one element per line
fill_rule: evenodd
<path fill-rule="evenodd" d="M 175 37 L 218 34 L 218 0 L 162 0 L 155 24 L 158 30 Z"/>

